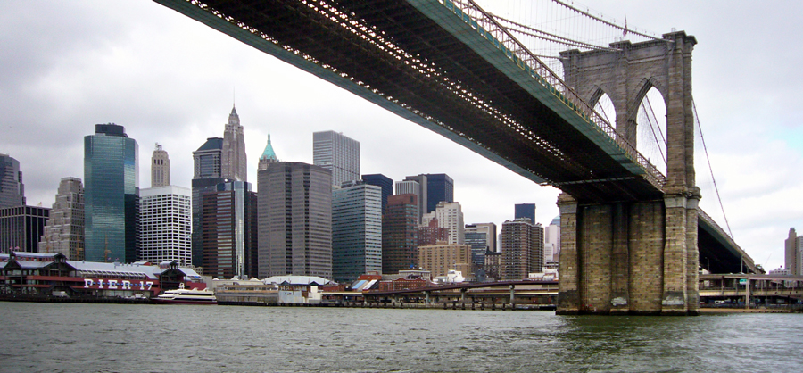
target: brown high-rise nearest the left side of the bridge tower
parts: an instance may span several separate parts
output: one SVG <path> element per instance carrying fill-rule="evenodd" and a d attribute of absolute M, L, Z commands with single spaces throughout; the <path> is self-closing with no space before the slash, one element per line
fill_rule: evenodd
<path fill-rule="evenodd" d="M 527 278 L 543 267 L 543 228 L 529 218 L 505 220 L 501 228 L 504 279 Z"/>

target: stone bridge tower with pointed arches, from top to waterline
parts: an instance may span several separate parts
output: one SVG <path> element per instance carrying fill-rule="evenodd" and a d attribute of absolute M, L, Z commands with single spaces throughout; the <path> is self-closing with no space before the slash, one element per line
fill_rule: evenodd
<path fill-rule="evenodd" d="M 666 103 L 664 195 L 650 201 L 584 203 L 559 196 L 558 312 L 697 314 L 697 205 L 691 50 L 685 32 L 611 44 L 615 50 L 561 53 L 565 80 L 589 104 L 608 94 L 617 131 L 636 145 L 639 104 L 656 87 Z"/>

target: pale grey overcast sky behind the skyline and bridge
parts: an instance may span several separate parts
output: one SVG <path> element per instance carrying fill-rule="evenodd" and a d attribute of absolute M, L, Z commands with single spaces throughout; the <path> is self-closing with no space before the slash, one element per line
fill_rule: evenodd
<path fill-rule="evenodd" d="M 697 37 L 693 94 L 733 235 L 757 264 L 782 266 L 789 228 L 803 232 L 803 3 L 586 3 L 630 27 Z M 189 187 L 192 152 L 222 137 L 236 100 L 251 182 L 268 130 L 279 159 L 312 162 L 312 132 L 331 129 L 360 141 L 363 174 L 450 175 L 467 223 L 501 225 L 514 203 L 536 203 L 544 225 L 558 215 L 557 190 L 160 4 L 0 6 L 0 153 L 20 161 L 29 204 L 50 206 L 60 178 L 83 178 L 83 137 L 97 123 L 137 140 L 140 187 L 157 142 L 172 183 Z M 724 227 L 700 149 L 697 173 L 701 205 Z"/>

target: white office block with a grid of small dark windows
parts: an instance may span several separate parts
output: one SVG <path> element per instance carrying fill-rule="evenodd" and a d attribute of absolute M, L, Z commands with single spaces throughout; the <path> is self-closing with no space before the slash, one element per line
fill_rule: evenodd
<path fill-rule="evenodd" d="M 192 192 L 186 187 L 150 187 L 140 191 L 140 261 L 192 262 Z"/>

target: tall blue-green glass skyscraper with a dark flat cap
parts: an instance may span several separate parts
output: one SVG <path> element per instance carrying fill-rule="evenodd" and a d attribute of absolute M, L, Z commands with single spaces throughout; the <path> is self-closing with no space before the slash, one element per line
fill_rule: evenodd
<path fill-rule="evenodd" d="M 123 126 L 95 125 L 84 137 L 85 258 L 137 261 L 139 157 Z"/>

